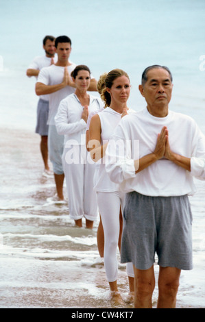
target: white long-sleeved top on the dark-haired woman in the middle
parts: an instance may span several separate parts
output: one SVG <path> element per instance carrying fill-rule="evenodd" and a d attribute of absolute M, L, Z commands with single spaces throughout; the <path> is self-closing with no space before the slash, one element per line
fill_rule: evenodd
<path fill-rule="evenodd" d="M 90 96 L 88 112 L 100 110 L 103 103 L 99 97 Z M 86 122 L 82 119 L 84 107 L 77 96 L 73 93 L 62 99 L 55 117 L 58 134 L 64 135 L 64 143 L 68 140 L 72 145 L 85 145 L 86 143 Z"/>

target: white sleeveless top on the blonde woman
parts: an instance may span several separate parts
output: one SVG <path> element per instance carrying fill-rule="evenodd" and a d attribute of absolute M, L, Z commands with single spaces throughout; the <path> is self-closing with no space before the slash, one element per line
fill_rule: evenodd
<path fill-rule="evenodd" d="M 133 113 L 133 110 L 128 110 L 128 114 Z M 108 143 L 112 136 L 115 127 L 121 121 L 121 114 L 112 110 L 112 108 L 104 108 L 103 111 L 99 112 L 99 119 L 101 123 L 101 145 Z M 125 117 L 125 116 L 124 116 Z M 95 191 L 101 192 L 113 192 L 119 190 L 119 184 L 116 184 L 110 180 L 108 173 L 105 168 L 106 157 L 101 158 L 99 170 L 96 175 Z"/>

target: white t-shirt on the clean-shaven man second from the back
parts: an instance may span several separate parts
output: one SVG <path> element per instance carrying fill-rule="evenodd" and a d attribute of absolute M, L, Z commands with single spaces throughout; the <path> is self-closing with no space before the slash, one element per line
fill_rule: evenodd
<path fill-rule="evenodd" d="M 75 67 L 76 64 L 74 63 L 71 63 L 71 65 L 67 66 L 70 75 Z M 38 75 L 37 82 L 43 83 L 45 85 L 57 85 L 62 83 L 63 77 L 64 67 L 56 66 L 53 64 L 49 67 L 41 69 Z M 49 95 L 49 118 L 47 124 L 55 125 L 54 117 L 56 116 L 60 101 L 62 101 L 62 99 L 64 99 L 68 95 L 71 95 L 73 92 L 75 92 L 75 88 L 66 86 L 61 90 L 53 92 Z"/>

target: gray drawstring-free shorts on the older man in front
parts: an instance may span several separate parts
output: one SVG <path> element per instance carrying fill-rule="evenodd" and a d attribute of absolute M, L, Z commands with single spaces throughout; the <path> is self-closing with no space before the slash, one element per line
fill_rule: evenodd
<path fill-rule="evenodd" d="M 187 195 L 147 197 L 134 191 L 126 195 L 123 216 L 122 263 L 149 269 L 157 254 L 160 267 L 193 268 L 192 214 Z"/>

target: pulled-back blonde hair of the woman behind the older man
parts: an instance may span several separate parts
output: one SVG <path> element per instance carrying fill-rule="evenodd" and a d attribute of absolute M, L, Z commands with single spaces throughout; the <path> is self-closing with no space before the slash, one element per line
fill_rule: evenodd
<path fill-rule="evenodd" d="M 109 73 L 104 73 L 99 77 L 99 81 L 97 82 L 97 91 L 99 92 L 101 99 L 105 102 L 105 107 L 110 106 L 111 103 L 110 93 L 108 93 L 107 88 L 111 88 L 114 79 L 121 76 L 128 77 L 130 81 L 128 74 L 122 69 L 112 69 Z"/>

